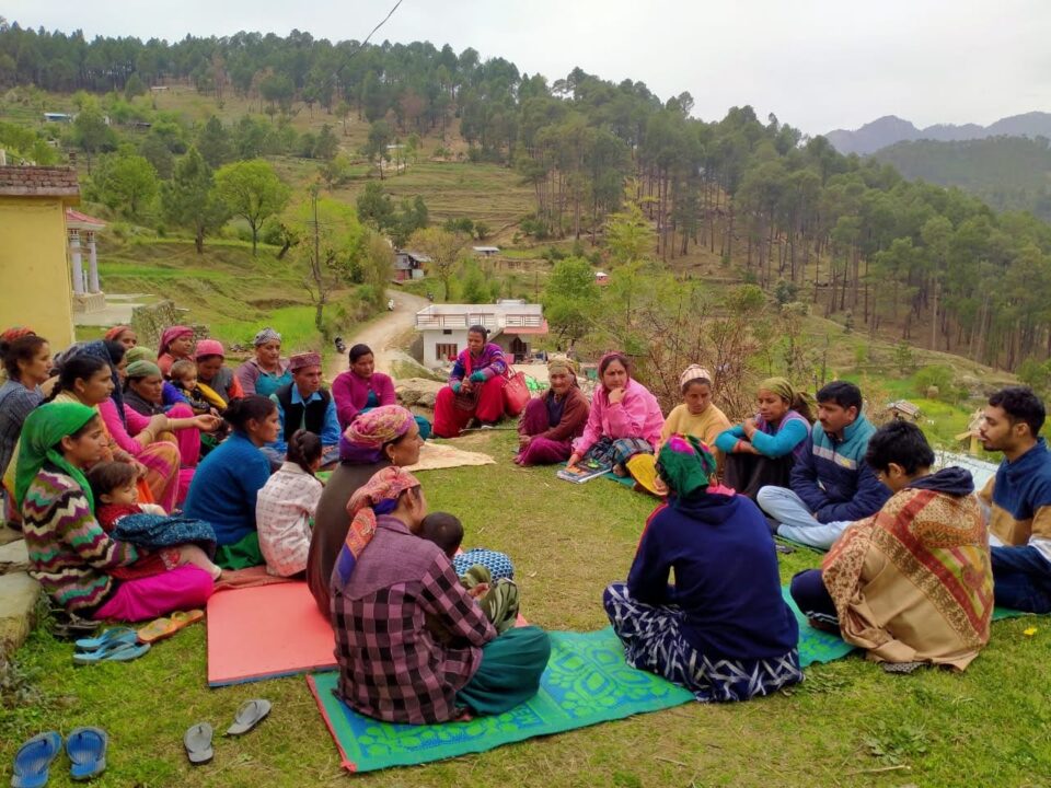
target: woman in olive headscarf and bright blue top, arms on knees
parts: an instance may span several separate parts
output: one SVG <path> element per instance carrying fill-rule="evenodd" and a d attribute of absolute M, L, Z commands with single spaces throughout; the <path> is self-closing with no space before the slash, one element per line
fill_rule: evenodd
<path fill-rule="evenodd" d="M 725 455 L 723 480 L 755 500 L 765 485 L 789 487 L 792 467 L 810 437 L 810 404 L 786 378 L 759 384 L 759 413 L 719 433 L 716 448 Z"/>

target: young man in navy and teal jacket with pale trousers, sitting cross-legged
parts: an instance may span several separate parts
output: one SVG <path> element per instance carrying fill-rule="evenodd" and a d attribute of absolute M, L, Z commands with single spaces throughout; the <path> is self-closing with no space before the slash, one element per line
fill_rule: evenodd
<path fill-rule="evenodd" d="M 865 463 L 876 428 L 862 415 L 856 385 L 833 381 L 819 391 L 818 421 L 792 470 L 792 489 L 763 487 L 755 501 L 779 536 L 828 549 L 852 522 L 878 512 L 890 490 Z"/>

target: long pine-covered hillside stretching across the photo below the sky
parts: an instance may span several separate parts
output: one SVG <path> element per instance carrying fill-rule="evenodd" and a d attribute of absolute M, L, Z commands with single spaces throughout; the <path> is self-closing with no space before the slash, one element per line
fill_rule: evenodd
<path fill-rule="evenodd" d="M 269 119 L 222 127 L 151 108 L 148 88 L 175 82 L 195 85 L 217 107 L 247 97 Z M 579 68 L 552 82 L 470 48 L 361 47 L 297 31 L 169 44 L 89 42 L 4 24 L 0 85 L 21 86 L 19 101 L 35 118 L 27 137 L 0 125 L 0 144 L 45 157 L 55 155 L 45 141 L 57 141 L 59 157 L 104 154 L 109 165 L 100 169 L 108 172 L 140 157 L 162 178 L 165 163 L 171 173 L 172 158 L 194 146 L 207 149 L 212 167 L 272 154 L 336 157 L 339 144 L 322 150 L 320 138 L 307 144 L 307 135 L 290 130 L 285 119 L 304 109 L 334 123 L 360 116 L 370 124 L 361 152 L 370 159 L 389 155 L 391 141 L 455 129 L 470 161 L 515 167 L 530 185 L 534 211 L 519 222 L 526 234 L 605 243 L 607 217 L 625 208 L 628 185 L 646 227 L 619 239 L 619 248 L 637 248 L 631 259 L 603 262 L 614 273 L 643 257 L 674 270 L 680 256 L 703 248 L 771 294 L 850 312 L 857 331 L 889 327 L 1012 369 L 1051 349 L 1051 225 L 1028 213 L 997 215 L 959 189 L 909 182 L 880 161 L 844 157 L 824 137 L 806 139 L 748 106 L 706 121 L 691 117 L 689 92 L 662 100 L 642 82 L 613 83 Z M 27 85 L 85 91 L 72 126 L 41 125 L 45 102 Z M 102 113 L 114 127 L 101 126 Z M 139 130 L 124 134 L 129 127 Z M 443 160 L 437 151 L 436 159 Z"/>

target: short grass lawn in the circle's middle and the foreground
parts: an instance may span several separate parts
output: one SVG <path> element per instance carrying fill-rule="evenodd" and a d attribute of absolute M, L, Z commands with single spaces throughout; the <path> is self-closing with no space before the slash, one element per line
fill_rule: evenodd
<path fill-rule="evenodd" d="M 550 468 L 510 462 L 513 434 L 460 443 L 497 465 L 421 474 L 431 510 L 457 512 L 467 545 L 506 551 L 523 612 L 550 629 L 605 626 L 603 587 L 624 578 L 647 498 L 602 479 L 575 487 Z M 817 566 L 781 556 L 782 579 Z M 1024 635 L 1037 627 L 1031 637 Z M 190 627 L 138 662 L 74 669 L 71 647 L 41 626 L 0 674 L 0 779 L 28 735 L 97 725 L 111 734 L 97 786 L 344 785 L 336 749 L 301 676 L 209 690 L 205 628 Z M 948 786 L 1046 785 L 1051 775 L 1051 619 L 1001 622 L 966 674 L 891 676 L 858 657 L 807 671 L 774 697 L 680 706 L 496 751 L 353 778 L 394 786 Z M 217 740 L 190 768 L 183 731 L 222 730 L 251 697 L 274 702 L 245 738 Z M 49 785 L 69 785 L 63 762 Z"/>

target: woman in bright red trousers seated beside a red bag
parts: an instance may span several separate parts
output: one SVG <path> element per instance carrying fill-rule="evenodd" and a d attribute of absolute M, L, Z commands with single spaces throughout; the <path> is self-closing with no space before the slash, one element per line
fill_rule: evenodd
<path fill-rule="evenodd" d="M 496 343 L 487 341 L 489 329 L 467 329 L 467 347 L 457 357 L 449 385 L 435 399 L 435 434 L 455 438 L 472 418 L 492 427 L 504 418 L 507 361 Z"/>

